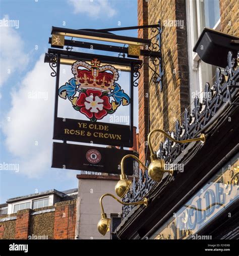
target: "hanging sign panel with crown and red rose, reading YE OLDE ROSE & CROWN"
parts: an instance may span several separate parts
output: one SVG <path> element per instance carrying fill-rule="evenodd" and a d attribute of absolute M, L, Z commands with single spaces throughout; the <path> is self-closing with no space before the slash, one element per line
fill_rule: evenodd
<path fill-rule="evenodd" d="M 140 60 L 49 49 L 45 62 L 56 76 L 53 139 L 133 146 Z"/>

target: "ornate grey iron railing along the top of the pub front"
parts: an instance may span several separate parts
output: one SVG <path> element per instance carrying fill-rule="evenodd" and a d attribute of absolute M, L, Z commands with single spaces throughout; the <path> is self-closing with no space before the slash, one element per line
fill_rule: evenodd
<path fill-rule="evenodd" d="M 238 105 L 238 102 L 232 102 L 232 99 L 238 94 L 239 88 L 239 52 L 237 58 L 232 58 L 231 52 L 227 56 L 228 66 L 224 69 L 222 74 L 221 69 L 216 69 L 215 82 L 213 87 L 210 89 L 210 84 L 205 85 L 205 98 L 202 103 L 199 98 L 196 97 L 194 100 L 194 109 L 192 113 L 186 109 L 184 113 L 184 122 L 180 125 L 177 120 L 175 122 L 175 130 L 170 132 L 176 140 L 186 140 L 196 137 L 201 130 L 203 130 L 209 121 L 215 116 L 218 110 L 227 102 L 230 105 Z M 211 96 L 211 97 L 209 97 Z M 172 163 L 178 155 L 187 147 L 187 144 L 174 144 L 166 139 L 164 143 L 160 143 L 158 157 L 164 159 L 166 163 Z M 177 172 L 174 172 L 174 176 L 168 176 L 161 184 L 162 189 L 172 179 L 175 179 Z M 154 186 L 155 182 L 148 177 L 147 170 L 142 173 L 140 170 L 139 179 L 133 180 L 132 189 L 123 198 L 124 202 L 135 202 L 140 201 L 145 197 L 150 189 Z M 123 206 L 123 218 L 125 218 L 134 206 L 124 205 Z"/>

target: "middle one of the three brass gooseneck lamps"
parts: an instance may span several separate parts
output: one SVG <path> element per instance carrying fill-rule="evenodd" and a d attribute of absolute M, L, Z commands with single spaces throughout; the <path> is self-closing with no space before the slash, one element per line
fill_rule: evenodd
<path fill-rule="evenodd" d="M 126 175 L 125 175 L 125 169 L 124 169 L 124 162 L 125 159 L 128 157 L 132 157 L 134 158 L 137 162 L 139 162 L 145 169 L 147 169 L 147 167 L 140 161 L 140 159 L 135 156 L 135 155 L 125 155 L 122 160 L 121 160 L 121 176 L 120 176 L 120 180 L 117 182 L 117 184 L 115 185 L 115 192 L 117 194 L 118 197 L 122 198 L 124 197 L 124 195 L 128 192 L 128 190 L 130 189 L 130 185 L 131 185 L 131 181 L 127 179 Z"/>

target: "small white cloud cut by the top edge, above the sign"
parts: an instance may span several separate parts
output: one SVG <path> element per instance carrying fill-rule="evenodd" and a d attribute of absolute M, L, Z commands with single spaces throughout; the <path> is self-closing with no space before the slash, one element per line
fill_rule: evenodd
<path fill-rule="evenodd" d="M 74 7 L 74 13 L 86 13 L 92 18 L 113 17 L 116 10 L 110 6 L 108 0 L 69 0 Z"/>

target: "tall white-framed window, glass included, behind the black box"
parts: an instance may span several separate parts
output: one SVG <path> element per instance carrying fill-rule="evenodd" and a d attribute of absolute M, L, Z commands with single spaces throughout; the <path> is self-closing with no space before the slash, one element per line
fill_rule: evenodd
<path fill-rule="evenodd" d="M 220 30 L 219 0 L 186 1 L 191 103 L 197 95 L 202 100 L 205 83 L 212 86 L 216 67 L 204 63 L 193 48 L 204 27 Z"/>

